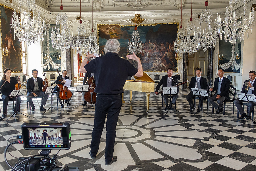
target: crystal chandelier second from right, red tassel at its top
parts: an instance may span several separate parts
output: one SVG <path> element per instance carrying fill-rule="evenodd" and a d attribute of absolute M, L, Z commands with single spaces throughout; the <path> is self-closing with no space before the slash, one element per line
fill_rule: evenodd
<path fill-rule="evenodd" d="M 207 9 L 208 1 L 205 1 L 206 9 L 202 11 L 199 19 L 199 27 L 197 27 L 197 42 L 198 49 L 203 49 L 206 51 L 208 48 L 216 45 L 216 40 L 218 38 L 218 33 L 216 29 L 213 29 L 212 24 L 212 11 Z M 205 23 L 206 27 L 202 31 L 202 23 Z"/>

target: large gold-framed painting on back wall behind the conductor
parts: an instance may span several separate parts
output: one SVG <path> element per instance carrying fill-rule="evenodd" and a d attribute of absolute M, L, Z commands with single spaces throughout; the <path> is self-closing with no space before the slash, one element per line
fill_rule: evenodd
<path fill-rule="evenodd" d="M 127 59 L 128 42 L 132 39 L 135 25 L 98 24 L 98 42 L 100 55 L 104 55 L 104 46 L 108 39 L 115 38 L 120 42 L 118 55 Z M 177 38 L 179 23 L 157 23 L 154 25 L 138 25 L 137 31 L 140 41 L 143 43 L 143 51 L 137 56 L 141 59 L 143 71 L 166 72 L 167 68 L 173 68 L 177 72 L 177 55 L 174 52 L 174 41 Z M 129 60 L 129 59 L 127 59 Z M 135 67 L 137 62 L 129 60 Z"/>

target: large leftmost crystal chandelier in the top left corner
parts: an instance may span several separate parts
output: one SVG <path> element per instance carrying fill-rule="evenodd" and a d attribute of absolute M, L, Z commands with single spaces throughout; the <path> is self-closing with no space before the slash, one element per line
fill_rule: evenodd
<path fill-rule="evenodd" d="M 28 7 L 28 12 L 22 10 L 21 6 Z M 38 11 L 37 17 L 34 15 L 36 12 L 36 0 L 19 0 L 19 13 L 23 13 L 24 18 L 18 20 L 16 11 L 13 11 L 13 18 L 11 28 L 14 29 L 14 39 L 15 34 L 18 37 L 19 41 L 24 41 L 29 46 L 31 43 L 37 43 L 38 37 L 41 40 L 44 40 L 44 34 L 46 27 L 42 25 L 40 12 Z"/>

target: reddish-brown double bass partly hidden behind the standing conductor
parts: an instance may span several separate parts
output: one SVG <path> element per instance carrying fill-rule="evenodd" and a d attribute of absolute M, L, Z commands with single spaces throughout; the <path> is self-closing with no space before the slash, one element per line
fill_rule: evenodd
<path fill-rule="evenodd" d="M 97 93 L 94 92 L 94 89 L 96 87 L 94 76 L 89 78 L 88 84 L 89 84 L 89 91 L 84 92 L 84 100 L 90 104 L 95 104 Z"/>

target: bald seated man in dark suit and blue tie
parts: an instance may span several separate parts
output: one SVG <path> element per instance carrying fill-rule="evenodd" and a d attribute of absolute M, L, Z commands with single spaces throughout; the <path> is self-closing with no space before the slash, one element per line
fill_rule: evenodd
<path fill-rule="evenodd" d="M 213 105 L 217 111 L 215 114 L 219 114 L 220 112 L 223 112 L 223 101 L 229 100 L 229 88 L 230 88 L 230 81 L 228 78 L 224 77 L 224 71 L 218 70 L 218 76 L 219 78 L 215 78 L 214 81 L 214 87 L 210 88 L 210 91 L 215 91 L 215 94 L 212 97 L 208 98 L 208 102 Z M 217 103 L 214 100 L 217 100 Z"/>

